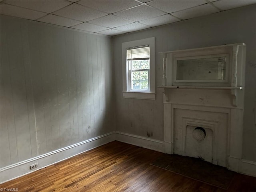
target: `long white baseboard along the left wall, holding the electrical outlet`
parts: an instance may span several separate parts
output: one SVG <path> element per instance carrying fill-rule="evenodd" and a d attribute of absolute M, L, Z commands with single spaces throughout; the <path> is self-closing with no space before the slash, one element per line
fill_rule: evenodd
<path fill-rule="evenodd" d="M 72 156 L 76 156 L 114 140 L 115 132 L 111 132 L 23 162 L 6 166 L 0 169 L 0 184 L 34 172 L 40 168 L 45 168 L 57 162 L 66 160 Z M 30 165 L 34 163 L 38 163 L 38 168 L 30 170 Z"/>

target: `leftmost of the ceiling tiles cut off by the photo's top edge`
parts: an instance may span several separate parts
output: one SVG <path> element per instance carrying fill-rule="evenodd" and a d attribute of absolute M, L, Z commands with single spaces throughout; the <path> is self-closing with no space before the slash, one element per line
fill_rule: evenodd
<path fill-rule="evenodd" d="M 68 6 L 69 4 L 72 4 L 68 1 L 63 0 L 5 0 L 4 1 L 7 4 L 28 8 L 40 12 L 46 12 L 51 13 L 56 10 L 59 10 L 65 6 Z"/>

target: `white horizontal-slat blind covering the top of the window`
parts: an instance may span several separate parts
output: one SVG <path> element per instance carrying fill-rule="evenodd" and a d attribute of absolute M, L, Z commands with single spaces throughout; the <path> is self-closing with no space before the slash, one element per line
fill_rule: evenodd
<path fill-rule="evenodd" d="M 145 60 L 150 58 L 150 47 L 127 49 L 126 58 L 130 60 Z"/>

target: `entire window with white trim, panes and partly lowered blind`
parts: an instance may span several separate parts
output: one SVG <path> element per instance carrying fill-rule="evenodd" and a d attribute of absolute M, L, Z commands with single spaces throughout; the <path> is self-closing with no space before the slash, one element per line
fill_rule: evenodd
<path fill-rule="evenodd" d="M 154 38 L 122 43 L 123 96 L 155 99 Z"/>

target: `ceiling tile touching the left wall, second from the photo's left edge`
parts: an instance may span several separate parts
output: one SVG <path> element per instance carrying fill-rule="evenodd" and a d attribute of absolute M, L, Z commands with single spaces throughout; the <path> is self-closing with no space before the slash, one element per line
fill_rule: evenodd
<path fill-rule="evenodd" d="M 80 21 L 76 21 L 76 20 L 72 20 L 72 19 L 68 19 L 68 18 L 64 18 L 57 15 L 52 15 L 52 14 L 46 15 L 38 19 L 38 21 L 60 25 L 64 27 L 70 27 L 70 26 L 74 26 L 81 23 Z"/>

